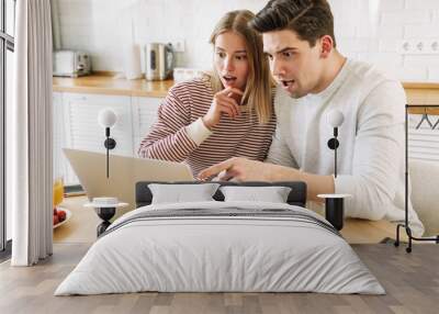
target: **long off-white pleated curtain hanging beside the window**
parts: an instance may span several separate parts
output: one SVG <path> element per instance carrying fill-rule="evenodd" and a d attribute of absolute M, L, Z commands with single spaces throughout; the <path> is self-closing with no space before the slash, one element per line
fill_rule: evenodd
<path fill-rule="evenodd" d="M 52 24 L 49 0 L 16 1 L 15 79 L 7 108 L 7 199 L 13 266 L 52 255 Z"/>

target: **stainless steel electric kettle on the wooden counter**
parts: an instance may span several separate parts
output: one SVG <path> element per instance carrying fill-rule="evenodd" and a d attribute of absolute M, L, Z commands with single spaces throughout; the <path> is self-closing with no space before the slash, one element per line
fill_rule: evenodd
<path fill-rule="evenodd" d="M 147 44 L 145 58 L 145 78 L 147 80 L 165 80 L 172 74 L 175 57 L 171 44 Z"/>

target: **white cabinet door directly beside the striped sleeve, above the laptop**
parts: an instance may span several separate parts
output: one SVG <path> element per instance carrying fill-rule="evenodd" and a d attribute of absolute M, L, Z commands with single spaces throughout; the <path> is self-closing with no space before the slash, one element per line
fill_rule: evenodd
<path fill-rule="evenodd" d="M 137 156 L 137 150 L 142 139 L 149 133 L 149 128 L 157 121 L 157 111 L 164 99 L 151 97 L 133 97 L 133 155 Z"/>

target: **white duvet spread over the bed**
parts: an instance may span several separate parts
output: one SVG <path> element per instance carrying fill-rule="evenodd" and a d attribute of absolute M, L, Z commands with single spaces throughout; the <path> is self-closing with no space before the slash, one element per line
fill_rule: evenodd
<path fill-rule="evenodd" d="M 148 205 L 116 220 L 55 295 L 160 292 L 323 292 L 383 294 L 384 289 L 337 234 L 284 217 L 126 220 L 145 211 L 288 209 L 279 203 L 198 202 Z M 148 212 L 149 214 L 150 212 Z M 119 226 L 119 227 L 117 227 Z"/>

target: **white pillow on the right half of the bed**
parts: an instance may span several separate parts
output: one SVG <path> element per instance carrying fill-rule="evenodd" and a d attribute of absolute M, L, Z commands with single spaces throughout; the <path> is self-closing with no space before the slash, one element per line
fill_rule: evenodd
<path fill-rule="evenodd" d="M 257 201 L 270 203 L 286 203 L 291 188 L 288 187 L 222 187 L 225 202 Z"/>

